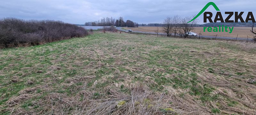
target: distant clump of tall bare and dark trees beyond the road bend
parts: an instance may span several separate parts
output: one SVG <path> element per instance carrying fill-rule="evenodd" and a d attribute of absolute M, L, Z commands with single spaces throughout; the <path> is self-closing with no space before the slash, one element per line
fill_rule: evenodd
<path fill-rule="evenodd" d="M 118 19 L 106 17 L 98 21 L 85 22 L 84 26 L 138 27 L 138 23 L 135 23 L 131 20 L 126 20 L 124 22 L 123 17 L 119 17 Z"/>

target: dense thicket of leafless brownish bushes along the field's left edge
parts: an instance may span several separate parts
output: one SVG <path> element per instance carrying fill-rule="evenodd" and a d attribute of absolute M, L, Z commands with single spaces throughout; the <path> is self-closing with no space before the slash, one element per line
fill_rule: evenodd
<path fill-rule="evenodd" d="M 1 48 L 38 45 L 85 35 L 88 32 L 83 27 L 62 21 L 0 19 Z"/>

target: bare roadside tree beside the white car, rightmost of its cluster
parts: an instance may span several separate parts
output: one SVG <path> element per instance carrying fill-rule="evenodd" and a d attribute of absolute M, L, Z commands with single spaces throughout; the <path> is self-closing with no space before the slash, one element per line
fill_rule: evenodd
<path fill-rule="evenodd" d="M 194 30 L 194 26 L 197 22 L 197 20 L 195 19 L 188 23 L 188 21 L 190 21 L 191 19 L 193 19 L 193 17 L 185 17 L 181 19 L 180 29 L 178 31 L 180 35 L 183 36 L 184 38 L 188 36 L 189 32 Z"/>

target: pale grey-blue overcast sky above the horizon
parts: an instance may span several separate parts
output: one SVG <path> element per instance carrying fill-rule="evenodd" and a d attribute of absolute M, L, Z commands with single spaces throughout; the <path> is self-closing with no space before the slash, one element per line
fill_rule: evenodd
<path fill-rule="evenodd" d="M 252 11 L 256 18 L 256 0 L 0 0 L 0 18 L 50 19 L 84 24 L 103 17 L 117 19 L 122 16 L 140 24 L 162 23 L 167 16 L 196 15 L 208 2 L 214 2 L 222 15 L 225 11 L 244 11 L 245 20 L 248 11 Z M 212 6 L 206 11 L 212 11 L 215 17 Z M 202 15 L 197 18 L 199 24 L 203 24 Z"/>

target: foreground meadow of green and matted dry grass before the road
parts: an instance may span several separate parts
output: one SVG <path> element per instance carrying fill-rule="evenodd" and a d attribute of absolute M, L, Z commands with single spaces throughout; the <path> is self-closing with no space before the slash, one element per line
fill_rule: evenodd
<path fill-rule="evenodd" d="M 95 32 L 0 50 L 0 114 L 256 113 L 256 45 Z"/>

